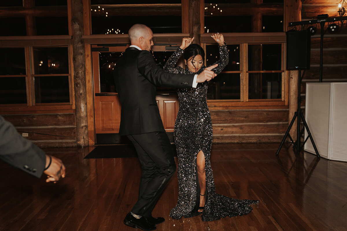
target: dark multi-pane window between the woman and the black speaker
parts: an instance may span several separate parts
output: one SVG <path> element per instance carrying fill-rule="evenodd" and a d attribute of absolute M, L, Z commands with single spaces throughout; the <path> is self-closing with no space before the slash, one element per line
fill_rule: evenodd
<path fill-rule="evenodd" d="M 242 34 L 237 39 L 245 41 L 257 39 L 242 36 L 252 35 L 251 33 Z M 206 66 L 210 66 L 219 59 L 218 45 L 206 43 L 205 47 Z M 213 102 L 224 102 L 213 103 L 215 107 L 239 105 L 233 104 L 234 101 L 247 102 L 243 105 L 252 106 L 257 106 L 257 103 L 251 101 L 272 101 L 266 104 L 284 105 L 285 95 L 282 95 L 282 92 L 285 92 L 284 42 L 262 44 L 244 42 L 227 44 L 227 47 L 229 63 L 217 77 L 210 81 L 207 99 Z M 231 103 L 226 104 L 225 101 Z M 273 103 L 274 101 L 279 102 Z"/>

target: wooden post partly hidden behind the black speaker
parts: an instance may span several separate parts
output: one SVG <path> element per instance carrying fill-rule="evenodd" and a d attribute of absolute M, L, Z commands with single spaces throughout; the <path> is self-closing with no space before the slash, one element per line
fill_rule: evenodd
<path fill-rule="evenodd" d="M 284 1 L 284 31 L 287 31 L 289 22 L 301 21 L 301 0 L 285 0 Z M 298 71 L 287 71 L 289 75 L 289 118 L 290 122 L 297 110 L 298 96 Z M 296 124 L 296 122 L 294 122 Z M 296 137 L 296 126 L 292 126 L 289 134 Z"/>

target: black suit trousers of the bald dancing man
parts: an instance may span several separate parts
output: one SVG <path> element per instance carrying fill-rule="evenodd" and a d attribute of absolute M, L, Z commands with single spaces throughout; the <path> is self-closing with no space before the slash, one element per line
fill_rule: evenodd
<path fill-rule="evenodd" d="M 165 185 L 176 171 L 176 163 L 166 132 L 127 135 L 135 146 L 142 165 L 138 200 L 132 208 L 136 215 L 151 216 Z"/>

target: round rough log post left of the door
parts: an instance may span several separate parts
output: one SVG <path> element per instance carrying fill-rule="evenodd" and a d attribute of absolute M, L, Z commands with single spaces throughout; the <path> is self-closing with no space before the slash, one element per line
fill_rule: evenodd
<path fill-rule="evenodd" d="M 74 89 L 76 104 L 76 140 L 78 146 L 88 146 L 87 127 L 87 93 L 85 78 L 85 51 L 82 35 L 83 3 L 80 0 L 69 0 L 71 9 L 71 33 L 73 45 Z"/>

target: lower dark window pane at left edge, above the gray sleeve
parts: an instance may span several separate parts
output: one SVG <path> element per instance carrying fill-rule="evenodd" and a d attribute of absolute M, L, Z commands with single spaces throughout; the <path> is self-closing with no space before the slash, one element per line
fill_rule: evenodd
<path fill-rule="evenodd" d="M 0 77 L 0 104 L 26 104 L 25 77 Z"/>

